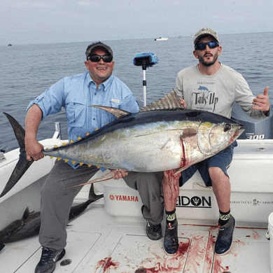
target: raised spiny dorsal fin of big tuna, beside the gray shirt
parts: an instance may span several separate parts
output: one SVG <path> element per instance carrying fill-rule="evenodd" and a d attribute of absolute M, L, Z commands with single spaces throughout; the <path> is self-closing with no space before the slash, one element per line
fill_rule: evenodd
<path fill-rule="evenodd" d="M 155 110 L 168 110 L 168 109 L 177 109 L 183 108 L 180 104 L 179 96 L 176 94 L 175 90 L 173 89 L 172 92 L 166 94 L 165 97 L 159 99 L 158 101 L 153 102 L 141 109 L 139 112 L 146 112 L 146 111 L 155 111 Z"/>

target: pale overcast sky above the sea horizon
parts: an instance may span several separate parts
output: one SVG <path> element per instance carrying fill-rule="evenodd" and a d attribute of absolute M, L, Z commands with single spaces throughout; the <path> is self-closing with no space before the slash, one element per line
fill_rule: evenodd
<path fill-rule="evenodd" d="M 0 45 L 273 31 L 272 0 L 0 0 Z"/>

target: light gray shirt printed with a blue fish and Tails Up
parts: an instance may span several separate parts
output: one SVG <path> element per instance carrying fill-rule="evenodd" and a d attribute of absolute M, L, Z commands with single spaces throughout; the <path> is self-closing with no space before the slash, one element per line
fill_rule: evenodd
<path fill-rule="evenodd" d="M 246 80 L 225 64 L 209 76 L 200 73 L 197 65 L 181 70 L 176 78 L 176 93 L 186 100 L 188 109 L 230 118 L 232 106 L 237 102 L 251 118 L 265 118 L 264 113 L 252 109 L 255 96 Z"/>

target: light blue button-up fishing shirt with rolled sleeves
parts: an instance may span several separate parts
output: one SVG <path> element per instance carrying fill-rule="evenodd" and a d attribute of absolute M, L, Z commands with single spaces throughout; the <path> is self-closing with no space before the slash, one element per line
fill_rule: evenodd
<path fill-rule="evenodd" d="M 92 80 L 90 73 L 62 78 L 48 90 L 36 97 L 27 106 L 27 110 L 37 104 L 43 112 L 42 120 L 57 113 L 64 107 L 66 111 L 69 140 L 76 141 L 78 137 L 85 137 L 97 128 L 111 123 L 116 119 L 111 113 L 88 107 L 92 104 L 111 106 L 114 108 L 137 113 L 139 106 L 130 91 L 116 76 L 111 77 L 99 85 Z"/>

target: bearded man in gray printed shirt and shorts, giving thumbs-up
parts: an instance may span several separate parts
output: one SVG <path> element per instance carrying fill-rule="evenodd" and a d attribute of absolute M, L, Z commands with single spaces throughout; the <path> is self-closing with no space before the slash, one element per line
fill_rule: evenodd
<path fill-rule="evenodd" d="M 218 61 L 222 47 L 216 31 L 207 27 L 200 29 L 195 34 L 194 45 L 193 55 L 199 59 L 199 63 L 181 70 L 176 78 L 176 93 L 185 108 L 209 111 L 230 118 L 232 106 L 237 102 L 251 118 L 263 119 L 269 116 L 268 87 L 265 87 L 263 94 L 255 97 L 240 73 Z M 235 146 L 236 141 L 224 151 L 189 167 L 181 174 L 165 172 L 162 188 L 166 211 L 164 249 L 167 254 L 173 255 L 179 249 L 176 220 L 179 186 L 183 186 L 197 169 L 206 186 L 212 186 L 218 204 L 219 232 L 215 253 L 225 255 L 230 250 L 235 218 L 230 214 L 231 187 L 227 169 Z"/>

